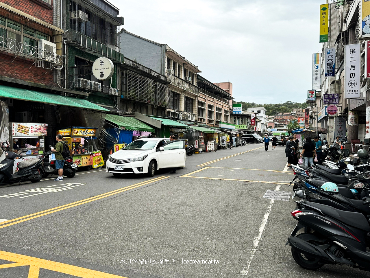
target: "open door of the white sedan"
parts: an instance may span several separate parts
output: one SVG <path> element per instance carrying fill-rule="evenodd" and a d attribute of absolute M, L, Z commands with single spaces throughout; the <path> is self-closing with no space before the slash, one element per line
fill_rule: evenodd
<path fill-rule="evenodd" d="M 159 168 L 185 166 L 185 140 L 174 140 L 162 146 L 164 151 L 158 150 Z"/>

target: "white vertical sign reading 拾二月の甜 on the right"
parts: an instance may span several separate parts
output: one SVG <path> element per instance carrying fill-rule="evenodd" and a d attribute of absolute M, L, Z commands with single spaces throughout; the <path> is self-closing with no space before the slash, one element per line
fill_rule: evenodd
<path fill-rule="evenodd" d="M 360 98 L 360 44 L 344 46 L 344 98 Z"/>

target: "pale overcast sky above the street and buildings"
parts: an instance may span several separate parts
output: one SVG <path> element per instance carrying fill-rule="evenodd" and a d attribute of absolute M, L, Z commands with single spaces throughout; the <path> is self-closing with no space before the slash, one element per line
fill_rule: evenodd
<path fill-rule="evenodd" d="M 139 36 L 168 44 L 236 101 L 303 102 L 325 0 L 109 0 Z"/>

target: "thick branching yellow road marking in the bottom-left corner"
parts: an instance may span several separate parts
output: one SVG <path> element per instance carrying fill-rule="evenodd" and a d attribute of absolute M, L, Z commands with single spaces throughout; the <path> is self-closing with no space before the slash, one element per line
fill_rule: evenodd
<path fill-rule="evenodd" d="M 64 274 L 73 275 L 81 278 L 127 278 L 114 274 L 109 274 L 101 271 L 96 271 L 88 268 L 77 267 L 75 265 L 63 264 L 61 262 L 48 261 L 26 255 L 10 253 L 0 250 L 0 259 L 16 262 L 21 265 L 30 265 L 28 278 L 38 278 L 38 271 L 40 268 L 48 269 Z"/>

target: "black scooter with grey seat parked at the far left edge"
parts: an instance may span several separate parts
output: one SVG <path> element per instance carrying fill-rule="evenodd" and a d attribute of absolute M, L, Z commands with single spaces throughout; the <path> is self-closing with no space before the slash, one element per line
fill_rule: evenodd
<path fill-rule="evenodd" d="M 18 171 L 13 174 L 14 161 L 21 158 L 20 155 L 27 150 L 13 153 L 9 151 L 8 141 L 1 142 L 1 149 L 6 151 L 7 157 L 0 163 L 0 185 L 21 183 L 22 181 L 38 182 L 41 180 L 41 171 L 43 167 L 43 158 L 31 158 L 18 163 Z"/>

